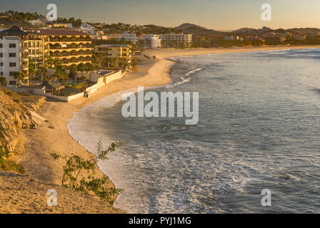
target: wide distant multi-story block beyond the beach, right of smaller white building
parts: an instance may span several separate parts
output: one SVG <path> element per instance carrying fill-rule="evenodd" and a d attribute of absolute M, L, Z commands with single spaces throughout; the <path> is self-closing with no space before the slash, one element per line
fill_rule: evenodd
<path fill-rule="evenodd" d="M 192 45 L 192 34 L 161 34 L 160 38 L 165 48 L 189 48 Z"/>

